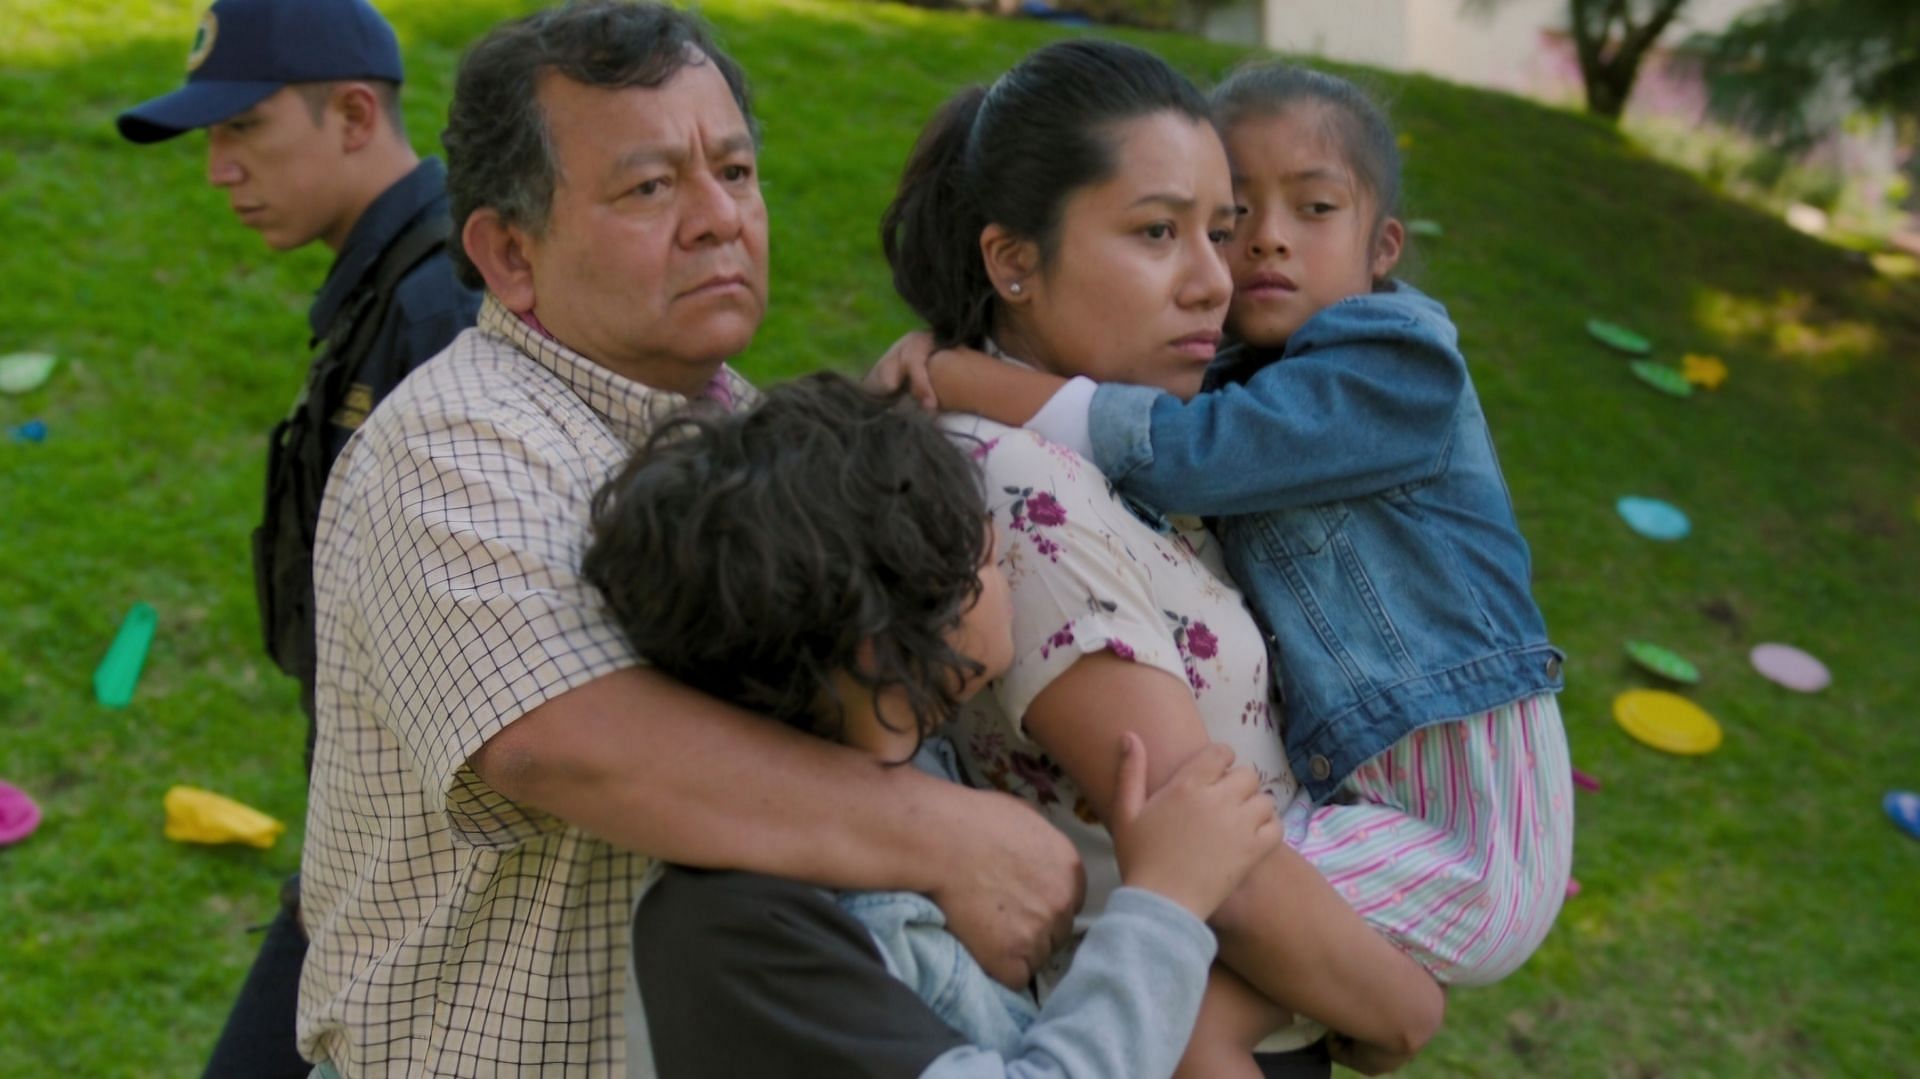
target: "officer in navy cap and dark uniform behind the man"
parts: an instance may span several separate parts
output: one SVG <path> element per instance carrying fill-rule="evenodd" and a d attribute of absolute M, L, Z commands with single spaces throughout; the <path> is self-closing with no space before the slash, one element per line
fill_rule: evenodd
<path fill-rule="evenodd" d="M 119 115 L 131 142 L 207 132 L 207 182 L 269 248 L 334 252 L 307 321 L 315 349 L 273 430 L 253 532 L 261 630 L 300 680 L 313 751 L 313 530 L 326 470 L 401 378 L 470 326 L 478 294 L 444 252 L 445 167 L 407 144 L 399 44 L 365 0 L 219 0 L 202 17 L 186 84 Z M 294 1048 L 305 935 L 298 879 L 282 895 L 207 1075 L 307 1075 Z"/>

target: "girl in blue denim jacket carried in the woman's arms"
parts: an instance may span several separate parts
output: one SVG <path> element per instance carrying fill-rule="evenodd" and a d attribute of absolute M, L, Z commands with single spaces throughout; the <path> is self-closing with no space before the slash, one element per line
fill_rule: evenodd
<path fill-rule="evenodd" d="M 924 334 L 876 378 L 1025 422 L 1146 513 L 1212 516 L 1269 630 L 1309 795 L 1288 845 L 1436 979 L 1486 985 L 1565 897 L 1563 657 L 1457 332 L 1390 278 L 1405 232 L 1384 115 L 1284 65 L 1242 69 L 1213 109 L 1242 215 L 1223 250 L 1238 344 L 1208 392 L 1062 382 L 970 349 L 927 363 Z"/>

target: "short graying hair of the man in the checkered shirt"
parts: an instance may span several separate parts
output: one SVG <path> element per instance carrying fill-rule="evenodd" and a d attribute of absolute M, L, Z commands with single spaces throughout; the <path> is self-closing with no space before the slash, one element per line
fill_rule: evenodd
<path fill-rule="evenodd" d="M 563 75 L 586 86 L 660 86 L 680 69 L 712 63 L 753 127 L 747 77 L 714 44 L 699 17 L 655 2 L 586 0 L 493 27 L 461 60 L 440 142 L 447 150 L 453 234 L 478 209 L 534 234 L 547 227 L 559 161 L 540 109 L 540 79 Z M 470 288 L 486 280 L 461 244 L 449 244 L 455 273 Z"/>

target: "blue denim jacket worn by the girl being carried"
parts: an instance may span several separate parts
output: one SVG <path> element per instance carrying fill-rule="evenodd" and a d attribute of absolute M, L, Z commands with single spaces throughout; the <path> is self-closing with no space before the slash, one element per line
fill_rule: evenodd
<path fill-rule="evenodd" d="M 1100 386 L 1094 463 L 1131 497 L 1217 518 L 1313 801 L 1417 728 L 1561 689 L 1446 307 L 1396 282 L 1210 376 L 1185 403 Z"/>

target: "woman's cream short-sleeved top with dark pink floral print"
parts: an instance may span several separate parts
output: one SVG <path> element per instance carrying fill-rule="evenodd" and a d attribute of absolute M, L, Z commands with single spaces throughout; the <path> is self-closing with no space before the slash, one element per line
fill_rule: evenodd
<path fill-rule="evenodd" d="M 981 467 L 1014 597 L 1014 664 L 956 720 L 954 745 L 973 783 L 1025 799 L 1073 839 L 1087 866 L 1075 923 L 1085 933 L 1119 887 L 1114 843 L 1025 737 L 1027 707 L 1085 655 L 1160 668 L 1192 691 L 1208 735 L 1261 776 L 1279 812 L 1298 785 L 1269 701 L 1267 641 L 1196 518 L 1129 507 L 1098 468 L 1037 434 L 979 417 L 943 422 Z"/>

